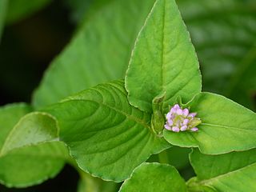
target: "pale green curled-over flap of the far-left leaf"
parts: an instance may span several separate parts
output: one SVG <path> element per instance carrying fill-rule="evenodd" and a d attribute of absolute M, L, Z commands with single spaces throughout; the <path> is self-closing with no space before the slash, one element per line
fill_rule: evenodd
<path fill-rule="evenodd" d="M 0 157 L 9 150 L 35 145 L 58 138 L 58 126 L 50 114 L 30 113 L 23 117 L 10 131 L 0 150 Z"/>

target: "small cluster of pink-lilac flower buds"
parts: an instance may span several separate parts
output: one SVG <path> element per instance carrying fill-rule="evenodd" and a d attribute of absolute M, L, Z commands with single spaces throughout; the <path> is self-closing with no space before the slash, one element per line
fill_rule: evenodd
<path fill-rule="evenodd" d="M 176 104 L 173 106 L 169 113 L 166 114 L 166 130 L 172 130 L 174 132 L 179 131 L 198 131 L 198 126 L 201 123 L 200 118 L 196 118 L 196 113 L 190 113 L 188 109 L 182 110 L 182 108 Z"/>

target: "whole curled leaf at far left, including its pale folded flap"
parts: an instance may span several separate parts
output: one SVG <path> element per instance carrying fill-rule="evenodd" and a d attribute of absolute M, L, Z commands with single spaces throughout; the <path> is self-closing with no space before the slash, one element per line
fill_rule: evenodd
<path fill-rule="evenodd" d="M 43 125 L 51 127 L 49 115 L 42 121 L 38 113 L 33 116 L 30 112 L 30 106 L 22 103 L 0 108 L 0 151 L 4 152 L 0 156 L 0 182 L 6 186 L 26 187 L 43 182 L 58 174 L 69 158 L 62 142 L 31 145 L 52 138 L 55 132 L 40 129 Z"/>

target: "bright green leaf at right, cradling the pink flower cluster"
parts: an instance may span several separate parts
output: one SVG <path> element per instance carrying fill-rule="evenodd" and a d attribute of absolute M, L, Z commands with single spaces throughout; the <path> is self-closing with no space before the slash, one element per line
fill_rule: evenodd
<path fill-rule="evenodd" d="M 256 147 L 256 114 L 218 94 L 201 93 L 186 106 L 198 113 L 198 132 L 164 130 L 173 145 L 198 147 L 204 154 L 223 154 Z"/>

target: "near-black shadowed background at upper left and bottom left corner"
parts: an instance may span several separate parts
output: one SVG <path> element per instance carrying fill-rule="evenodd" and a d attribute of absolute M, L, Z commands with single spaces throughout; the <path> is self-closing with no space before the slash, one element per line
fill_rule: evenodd
<path fill-rule="evenodd" d="M 75 25 L 61 1 L 53 1 L 31 17 L 6 26 L 0 44 L 0 106 L 12 102 L 30 102 L 44 70 L 70 41 Z M 65 166 L 54 179 L 26 189 L 1 192 L 71 192 L 77 188 L 78 173 Z"/>

